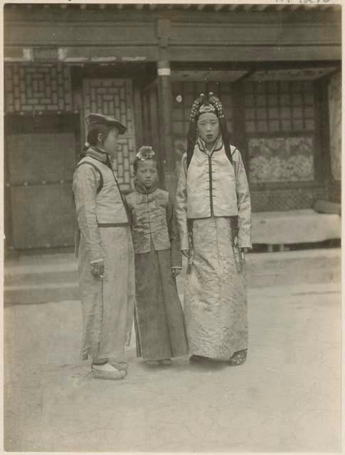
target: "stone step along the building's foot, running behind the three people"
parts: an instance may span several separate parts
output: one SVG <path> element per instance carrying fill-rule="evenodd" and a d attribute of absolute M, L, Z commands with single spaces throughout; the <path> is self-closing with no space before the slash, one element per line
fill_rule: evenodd
<path fill-rule="evenodd" d="M 184 272 L 177 279 L 183 294 Z M 341 250 L 250 253 L 247 255 L 248 288 L 284 287 L 299 284 L 341 282 Z M 75 257 L 53 255 L 25 257 L 9 262 L 4 275 L 5 304 L 31 304 L 78 300 Z"/>

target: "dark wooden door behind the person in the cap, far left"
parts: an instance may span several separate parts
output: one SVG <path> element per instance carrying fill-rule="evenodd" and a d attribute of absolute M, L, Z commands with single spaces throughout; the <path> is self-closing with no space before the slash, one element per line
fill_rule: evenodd
<path fill-rule="evenodd" d="M 78 118 L 6 119 L 5 235 L 12 249 L 73 245 Z"/>

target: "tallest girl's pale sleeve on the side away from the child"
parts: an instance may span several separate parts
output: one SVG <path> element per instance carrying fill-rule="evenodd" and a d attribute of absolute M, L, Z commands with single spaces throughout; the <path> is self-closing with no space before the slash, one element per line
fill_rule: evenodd
<path fill-rule="evenodd" d="M 250 229 L 251 222 L 251 205 L 250 193 L 245 166 L 243 165 L 240 152 L 236 149 L 233 153 L 236 177 L 236 193 L 238 203 L 238 246 L 240 248 L 251 248 Z"/>

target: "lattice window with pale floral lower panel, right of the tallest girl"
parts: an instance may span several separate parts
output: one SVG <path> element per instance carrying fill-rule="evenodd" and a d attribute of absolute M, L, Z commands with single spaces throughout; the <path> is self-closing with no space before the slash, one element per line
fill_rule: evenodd
<path fill-rule="evenodd" d="M 244 86 L 251 183 L 314 181 L 313 82 L 248 81 Z"/>

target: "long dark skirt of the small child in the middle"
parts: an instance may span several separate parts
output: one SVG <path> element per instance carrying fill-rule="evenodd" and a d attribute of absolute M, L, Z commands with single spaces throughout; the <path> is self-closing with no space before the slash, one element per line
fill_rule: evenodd
<path fill-rule="evenodd" d="M 146 360 L 188 353 L 184 314 L 171 273 L 170 250 L 135 255 L 137 356 Z"/>

